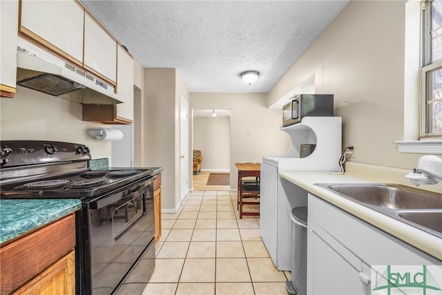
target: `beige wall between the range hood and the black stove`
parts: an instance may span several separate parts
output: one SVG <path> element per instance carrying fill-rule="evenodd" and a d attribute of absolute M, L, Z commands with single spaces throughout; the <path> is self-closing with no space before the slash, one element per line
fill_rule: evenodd
<path fill-rule="evenodd" d="M 0 109 L 1 140 L 86 144 L 93 159 L 109 158 L 111 161 L 111 142 L 88 136 L 88 129 L 106 125 L 81 121 L 81 104 L 17 86 L 13 99 L 0 99 Z"/>

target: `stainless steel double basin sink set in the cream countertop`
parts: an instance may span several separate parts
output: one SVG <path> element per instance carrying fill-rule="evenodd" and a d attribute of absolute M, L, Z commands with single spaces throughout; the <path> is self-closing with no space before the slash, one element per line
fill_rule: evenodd
<path fill-rule="evenodd" d="M 316 185 L 442 238 L 442 193 L 401 184 Z"/>

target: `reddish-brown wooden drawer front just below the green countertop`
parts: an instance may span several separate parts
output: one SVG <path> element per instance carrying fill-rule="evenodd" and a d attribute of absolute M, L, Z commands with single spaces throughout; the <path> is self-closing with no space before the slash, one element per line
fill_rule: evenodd
<path fill-rule="evenodd" d="M 74 248 L 74 213 L 1 247 L 0 293 L 14 291 Z"/>

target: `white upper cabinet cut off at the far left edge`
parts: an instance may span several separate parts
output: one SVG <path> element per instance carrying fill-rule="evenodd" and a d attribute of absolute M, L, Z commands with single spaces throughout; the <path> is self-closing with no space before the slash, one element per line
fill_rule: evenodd
<path fill-rule="evenodd" d="M 0 91 L 5 97 L 15 93 L 18 19 L 18 1 L 0 1 Z"/>

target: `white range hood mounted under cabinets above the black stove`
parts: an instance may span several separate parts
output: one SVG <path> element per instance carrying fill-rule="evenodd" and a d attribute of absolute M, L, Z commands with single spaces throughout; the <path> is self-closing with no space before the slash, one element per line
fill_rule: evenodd
<path fill-rule="evenodd" d="M 79 104 L 119 104 L 112 85 L 19 38 L 17 85 Z"/>

